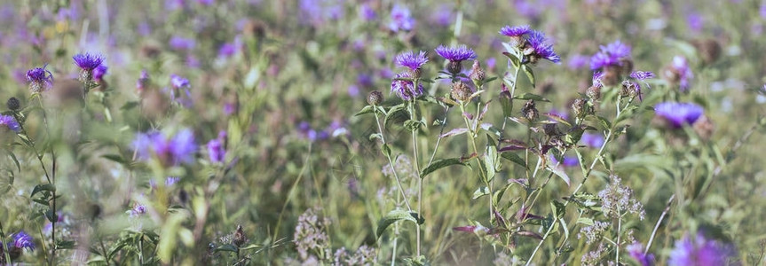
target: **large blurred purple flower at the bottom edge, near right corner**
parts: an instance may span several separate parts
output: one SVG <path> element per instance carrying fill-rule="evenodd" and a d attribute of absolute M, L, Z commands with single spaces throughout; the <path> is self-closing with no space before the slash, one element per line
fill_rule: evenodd
<path fill-rule="evenodd" d="M 706 239 L 698 233 L 696 237 L 687 235 L 675 241 L 675 248 L 670 252 L 667 265 L 734 265 L 733 260 L 736 254 L 733 246 Z"/>

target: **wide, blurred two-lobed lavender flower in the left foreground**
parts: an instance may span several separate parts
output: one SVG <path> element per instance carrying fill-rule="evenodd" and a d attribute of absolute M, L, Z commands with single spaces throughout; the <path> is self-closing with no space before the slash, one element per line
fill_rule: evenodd
<path fill-rule="evenodd" d="M 133 141 L 133 149 L 142 160 L 155 157 L 164 166 L 178 166 L 180 163 L 193 162 L 197 145 L 194 144 L 192 130 L 181 129 L 171 137 L 157 131 L 139 133 Z"/>

